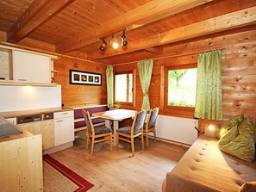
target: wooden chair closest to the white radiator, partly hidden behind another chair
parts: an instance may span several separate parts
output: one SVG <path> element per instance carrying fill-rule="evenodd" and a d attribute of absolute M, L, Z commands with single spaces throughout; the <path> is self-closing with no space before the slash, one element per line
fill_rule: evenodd
<path fill-rule="evenodd" d="M 155 133 L 155 122 L 159 115 L 159 108 L 150 109 L 149 115 L 147 117 L 147 122 L 144 124 L 143 135 L 146 136 L 146 143 L 148 148 L 148 133 L 153 132 L 153 139 L 156 143 L 156 133 Z"/>

